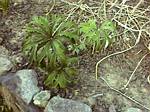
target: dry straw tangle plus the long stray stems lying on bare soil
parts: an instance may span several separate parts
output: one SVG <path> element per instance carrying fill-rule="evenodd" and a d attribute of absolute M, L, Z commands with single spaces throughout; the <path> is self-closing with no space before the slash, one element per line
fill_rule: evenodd
<path fill-rule="evenodd" d="M 122 2 L 119 0 L 101 0 L 99 2 L 98 0 L 80 0 L 79 2 L 70 2 L 70 0 L 61 1 L 68 6 L 67 8 L 69 8 L 69 10 L 73 8 L 76 9 L 76 11 L 71 14 L 70 18 L 76 18 L 75 20 L 77 20 L 78 23 L 88 18 L 95 18 L 98 24 L 101 24 L 103 21 L 109 19 L 114 21 L 117 25 L 116 41 L 112 46 L 112 50 L 119 49 L 119 51 L 109 54 L 97 62 L 96 79 L 99 78 L 99 64 L 107 58 L 128 52 L 141 43 L 144 43 L 146 49 L 148 48 L 150 42 L 150 6 L 145 5 L 148 4 L 145 0 L 136 0 L 134 3 L 129 0 L 122 0 Z M 64 14 L 68 15 L 68 13 Z M 142 50 L 143 48 L 139 49 L 139 51 Z M 107 50 L 103 50 L 102 52 L 107 52 Z M 149 51 L 147 54 L 149 54 Z M 146 58 L 147 54 L 143 54 L 143 57 L 137 64 L 125 87 L 129 85 L 138 66 L 140 66 L 141 61 Z M 106 83 L 106 85 L 108 85 L 110 89 L 130 99 L 137 105 L 150 110 L 145 105 L 121 93 L 119 90 L 112 88 L 104 78 L 100 78 Z"/>

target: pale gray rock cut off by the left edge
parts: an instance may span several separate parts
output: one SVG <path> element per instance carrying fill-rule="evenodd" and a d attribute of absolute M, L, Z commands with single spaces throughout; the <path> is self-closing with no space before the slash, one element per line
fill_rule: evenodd
<path fill-rule="evenodd" d="M 8 58 L 0 56 L 0 75 L 9 71 L 12 67 L 13 67 L 13 64 Z"/>

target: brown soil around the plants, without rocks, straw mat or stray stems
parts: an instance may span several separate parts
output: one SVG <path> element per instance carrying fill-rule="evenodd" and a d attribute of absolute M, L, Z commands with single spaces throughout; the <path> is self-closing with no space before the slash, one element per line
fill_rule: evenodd
<path fill-rule="evenodd" d="M 31 20 L 32 16 L 47 13 L 47 10 L 51 6 L 51 3 L 35 4 L 34 2 L 27 2 L 26 4 L 11 4 L 7 15 L 2 15 L 0 12 L 0 39 L 2 40 L 0 45 L 7 48 L 10 53 L 9 55 L 15 59 L 15 70 L 26 67 L 24 56 L 21 53 L 25 25 Z M 60 13 L 63 10 L 66 9 L 57 7 L 54 13 L 57 11 Z M 112 107 L 117 112 L 124 112 L 129 107 L 137 107 L 143 110 L 143 112 L 149 112 L 134 101 L 110 89 L 101 78 L 98 78 L 98 80 L 95 79 L 96 63 L 106 55 L 123 49 L 124 47 L 116 44 L 101 53 L 92 55 L 91 52 L 88 52 L 80 55 L 78 82 L 76 85 L 70 86 L 66 91 L 55 91 L 54 95 L 59 94 L 66 98 L 90 104 L 93 112 L 113 112 L 110 109 Z M 140 42 L 129 52 L 110 57 L 103 61 L 99 65 L 98 76 L 105 78 L 113 88 L 121 90 L 140 59 L 148 52 L 144 42 Z M 18 59 L 20 60 L 18 61 Z M 149 63 L 150 55 L 147 55 L 136 70 L 128 87 L 125 90 L 121 90 L 123 94 L 137 100 L 148 108 L 150 108 L 150 84 L 147 80 L 147 77 L 150 75 Z M 41 77 L 39 77 L 39 85 L 42 87 L 43 78 Z M 96 103 L 91 104 L 89 98 L 97 94 L 101 95 L 96 98 Z"/>

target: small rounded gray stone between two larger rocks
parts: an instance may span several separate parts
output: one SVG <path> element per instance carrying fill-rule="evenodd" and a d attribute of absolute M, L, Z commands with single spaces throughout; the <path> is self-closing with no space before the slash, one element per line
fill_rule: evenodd
<path fill-rule="evenodd" d="M 33 103 L 39 107 L 46 107 L 48 100 L 50 99 L 50 92 L 40 91 L 33 97 Z"/>

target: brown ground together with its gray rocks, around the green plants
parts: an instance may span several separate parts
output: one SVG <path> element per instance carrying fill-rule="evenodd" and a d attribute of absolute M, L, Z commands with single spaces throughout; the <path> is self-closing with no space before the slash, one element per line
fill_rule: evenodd
<path fill-rule="evenodd" d="M 53 12 L 64 13 L 68 7 L 64 9 L 63 5 L 61 1 L 56 2 Z M 14 112 L 150 112 L 150 55 L 143 40 L 134 49 L 104 60 L 98 68 L 98 80 L 95 79 L 96 63 L 128 45 L 118 41 L 99 54 L 80 55 L 77 83 L 67 90 L 43 86 L 43 76 L 36 67 L 27 66 L 21 48 L 25 25 L 32 16 L 48 13 L 52 6 L 51 0 L 19 0 L 11 4 L 7 15 L 0 12 L 0 96 L 4 99 L 0 100 L 0 109 L 3 112 L 12 112 L 8 107 L 13 107 Z M 122 89 L 131 74 L 131 82 Z"/>

